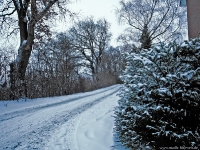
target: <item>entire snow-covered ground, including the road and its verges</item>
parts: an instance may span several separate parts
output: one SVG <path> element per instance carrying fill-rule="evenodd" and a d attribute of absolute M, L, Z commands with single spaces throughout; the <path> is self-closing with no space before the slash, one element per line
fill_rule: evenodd
<path fill-rule="evenodd" d="M 125 150 L 113 136 L 119 88 L 0 102 L 0 148 Z"/>

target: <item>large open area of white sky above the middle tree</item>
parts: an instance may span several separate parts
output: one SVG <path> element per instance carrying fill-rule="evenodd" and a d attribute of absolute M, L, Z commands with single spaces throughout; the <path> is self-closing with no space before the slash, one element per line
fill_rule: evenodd
<path fill-rule="evenodd" d="M 120 0 L 76 0 L 69 5 L 69 8 L 74 12 L 80 12 L 80 19 L 87 16 L 94 16 L 95 20 L 105 18 L 111 24 L 113 35 L 111 45 L 116 46 L 116 38 L 123 31 L 123 27 L 118 25 L 115 15 L 115 9 L 119 7 L 119 2 Z"/>

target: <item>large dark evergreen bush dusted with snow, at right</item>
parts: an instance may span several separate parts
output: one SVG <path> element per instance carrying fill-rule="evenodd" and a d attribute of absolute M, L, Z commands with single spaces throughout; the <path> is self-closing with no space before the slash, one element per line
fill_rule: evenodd
<path fill-rule="evenodd" d="M 131 148 L 200 149 L 200 39 L 125 54 L 116 132 Z"/>

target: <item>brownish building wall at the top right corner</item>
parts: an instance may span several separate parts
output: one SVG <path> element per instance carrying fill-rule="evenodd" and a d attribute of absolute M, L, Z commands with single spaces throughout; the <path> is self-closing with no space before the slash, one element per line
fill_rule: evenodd
<path fill-rule="evenodd" d="M 200 0 L 187 0 L 188 37 L 200 36 Z"/>

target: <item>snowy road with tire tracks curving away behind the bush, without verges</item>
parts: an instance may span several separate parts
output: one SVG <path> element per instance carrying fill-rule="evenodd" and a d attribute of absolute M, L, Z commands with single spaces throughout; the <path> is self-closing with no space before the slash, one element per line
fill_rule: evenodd
<path fill-rule="evenodd" d="M 115 85 L 78 96 L 75 94 L 58 102 L 0 112 L 0 149 L 44 149 L 46 143 L 51 142 L 52 133 L 62 125 L 70 124 L 79 114 L 116 95 L 119 88 Z"/>

